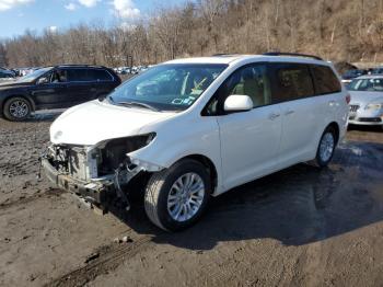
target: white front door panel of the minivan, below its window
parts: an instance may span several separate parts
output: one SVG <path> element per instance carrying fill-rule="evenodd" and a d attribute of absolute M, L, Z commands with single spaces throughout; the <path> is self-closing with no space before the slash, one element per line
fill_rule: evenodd
<path fill-rule="evenodd" d="M 268 105 L 218 117 L 223 185 L 230 190 L 278 167 L 280 106 Z"/>

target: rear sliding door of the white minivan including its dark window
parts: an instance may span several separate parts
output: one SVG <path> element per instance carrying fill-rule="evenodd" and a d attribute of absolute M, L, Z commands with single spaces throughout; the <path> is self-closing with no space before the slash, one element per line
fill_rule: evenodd
<path fill-rule="evenodd" d="M 316 150 L 316 135 L 328 112 L 327 100 L 315 96 L 307 65 L 272 64 L 274 101 L 280 104 L 282 135 L 279 150 L 281 167 L 309 160 Z M 323 131 L 323 130 L 322 130 Z"/>

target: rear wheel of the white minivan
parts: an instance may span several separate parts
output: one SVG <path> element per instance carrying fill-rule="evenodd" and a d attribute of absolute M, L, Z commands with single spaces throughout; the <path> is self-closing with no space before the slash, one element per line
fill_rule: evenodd
<path fill-rule="evenodd" d="M 327 127 L 323 133 L 316 151 L 315 163 L 320 168 L 325 168 L 332 161 L 336 147 L 336 131 L 333 127 Z"/>

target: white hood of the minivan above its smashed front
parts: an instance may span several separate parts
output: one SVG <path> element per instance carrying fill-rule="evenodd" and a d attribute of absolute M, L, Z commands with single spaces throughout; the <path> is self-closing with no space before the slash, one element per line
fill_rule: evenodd
<path fill-rule="evenodd" d="M 139 135 L 146 125 L 172 115 L 174 113 L 117 106 L 95 100 L 61 114 L 50 126 L 50 141 L 93 146 L 106 139 Z"/>

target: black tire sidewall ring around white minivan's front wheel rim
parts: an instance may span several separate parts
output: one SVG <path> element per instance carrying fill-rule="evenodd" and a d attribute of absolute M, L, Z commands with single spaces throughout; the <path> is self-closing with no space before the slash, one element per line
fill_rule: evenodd
<path fill-rule="evenodd" d="M 202 179 L 205 188 L 206 188 L 205 196 L 204 196 L 202 205 L 197 211 L 197 214 L 193 218 L 186 221 L 179 222 L 174 220 L 167 211 L 167 196 L 174 182 L 178 180 L 179 176 L 188 172 L 197 173 Z M 175 164 L 170 169 L 159 195 L 158 216 L 161 221 L 161 225 L 167 230 L 172 230 L 172 231 L 183 230 L 194 225 L 204 214 L 210 197 L 210 193 L 211 193 L 211 183 L 210 183 L 209 173 L 207 172 L 206 168 L 201 163 L 193 160 L 186 160 L 184 162 L 179 162 L 178 164 Z"/>

